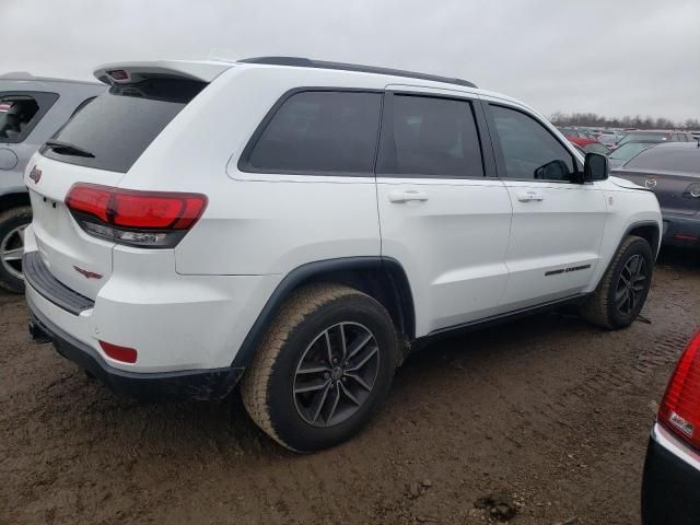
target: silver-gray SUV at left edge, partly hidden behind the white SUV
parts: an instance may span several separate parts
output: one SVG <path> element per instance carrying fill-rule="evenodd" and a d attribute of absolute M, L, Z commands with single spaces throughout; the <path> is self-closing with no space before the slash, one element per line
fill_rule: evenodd
<path fill-rule="evenodd" d="M 32 222 L 23 183 L 30 158 L 77 110 L 105 91 L 104 84 L 0 75 L 0 287 L 24 290 L 23 232 Z"/>

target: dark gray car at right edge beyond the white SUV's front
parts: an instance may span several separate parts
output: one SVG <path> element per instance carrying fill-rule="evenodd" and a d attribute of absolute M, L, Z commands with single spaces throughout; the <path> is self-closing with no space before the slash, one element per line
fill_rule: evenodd
<path fill-rule="evenodd" d="M 664 219 L 664 244 L 700 248 L 700 142 L 653 145 L 610 175 L 656 194 Z"/>

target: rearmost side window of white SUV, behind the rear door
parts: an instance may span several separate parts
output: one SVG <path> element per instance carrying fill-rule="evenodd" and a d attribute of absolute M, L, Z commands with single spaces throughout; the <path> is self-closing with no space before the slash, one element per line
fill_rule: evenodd
<path fill-rule="evenodd" d="M 380 93 L 296 93 L 267 122 L 242 168 L 373 174 L 381 104 Z"/>

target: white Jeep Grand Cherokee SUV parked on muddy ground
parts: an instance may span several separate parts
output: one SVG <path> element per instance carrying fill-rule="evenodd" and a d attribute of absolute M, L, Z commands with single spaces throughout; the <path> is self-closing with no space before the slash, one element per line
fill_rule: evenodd
<path fill-rule="evenodd" d="M 575 303 L 639 314 L 656 199 L 458 79 L 260 58 L 110 65 L 30 163 L 31 329 L 113 390 L 214 399 L 295 451 L 410 350 Z"/>

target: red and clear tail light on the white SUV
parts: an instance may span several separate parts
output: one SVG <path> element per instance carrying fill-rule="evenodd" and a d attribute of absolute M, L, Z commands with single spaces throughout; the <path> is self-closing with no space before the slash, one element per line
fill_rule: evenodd
<path fill-rule="evenodd" d="M 172 248 L 201 217 L 207 197 L 75 184 L 66 206 L 95 237 L 129 246 Z"/>

